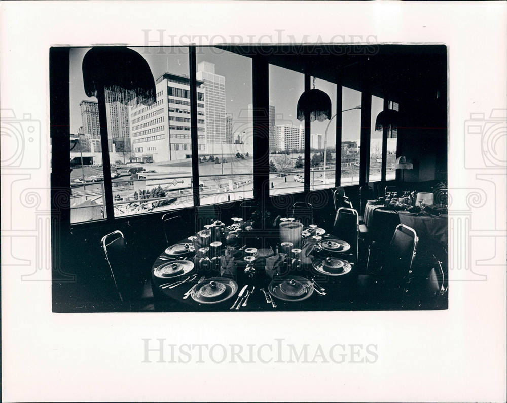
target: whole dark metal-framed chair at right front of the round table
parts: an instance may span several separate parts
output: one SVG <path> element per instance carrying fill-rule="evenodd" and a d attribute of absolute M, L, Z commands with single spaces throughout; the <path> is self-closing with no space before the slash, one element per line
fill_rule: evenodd
<path fill-rule="evenodd" d="M 387 292 L 384 295 L 388 298 L 394 297 L 392 293 L 402 292 L 410 281 L 418 241 L 412 228 L 399 224 L 387 248 L 372 243 L 366 266 L 368 275 L 359 276 L 359 284 L 363 287 L 381 286 L 379 293 Z"/>

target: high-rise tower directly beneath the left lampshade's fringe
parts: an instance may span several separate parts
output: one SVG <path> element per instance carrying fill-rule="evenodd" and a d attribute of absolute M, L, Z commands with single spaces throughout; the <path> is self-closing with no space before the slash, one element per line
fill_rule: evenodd
<path fill-rule="evenodd" d="M 130 127 L 128 120 L 128 106 L 126 99 L 118 99 L 111 101 L 108 96 L 110 92 L 106 92 L 106 117 L 107 117 L 107 136 L 113 139 L 117 145 L 117 151 L 130 152 Z M 116 97 L 121 97 L 121 94 L 116 94 Z M 122 102 L 120 102 L 122 101 Z"/>

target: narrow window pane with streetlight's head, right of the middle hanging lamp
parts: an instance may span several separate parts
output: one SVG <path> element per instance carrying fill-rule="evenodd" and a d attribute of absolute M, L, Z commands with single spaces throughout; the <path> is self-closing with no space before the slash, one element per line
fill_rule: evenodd
<path fill-rule="evenodd" d="M 342 176 L 341 185 L 359 183 L 361 143 L 361 92 L 342 87 Z"/>

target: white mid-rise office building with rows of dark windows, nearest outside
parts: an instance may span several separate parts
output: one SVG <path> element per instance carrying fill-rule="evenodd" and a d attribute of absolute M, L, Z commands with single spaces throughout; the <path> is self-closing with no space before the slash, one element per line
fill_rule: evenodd
<path fill-rule="evenodd" d="M 190 134 L 190 79 L 165 73 L 157 78 L 157 101 L 151 106 L 129 106 L 132 151 L 143 161 L 162 162 L 192 156 Z M 205 88 L 197 80 L 197 142 L 206 150 Z"/>

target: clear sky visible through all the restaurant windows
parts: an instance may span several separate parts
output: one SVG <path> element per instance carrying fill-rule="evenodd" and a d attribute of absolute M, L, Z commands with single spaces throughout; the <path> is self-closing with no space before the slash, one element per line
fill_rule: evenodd
<path fill-rule="evenodd" d="M 77 133 L 81 123 L 79 103 L 88 98 L 84 92 L 83 74 L 81 64 L 85 53 L 90 48 L 73 48 L 70 51 L 70 129 L 71 133 Z M 155 79 L 165 72 L 180 75 L 189 75 L 189 56 L 187 47 L 164 47 L 144 48 L 132 47 L 139 52 L 148 62 Z M 196 61 L 208 61 L 215 64 L 215 73 L 225 77 L 226 88 L 226 112 L 233 114 L 236 120 L 235 126 L 242 126 L 238 117 L 245 116 L 244 112 L 252 103 L 252 70 L 251 58 L 237 55 L 222 49 L 213 47 L 197 47 Z M 121 68 L 121 66 L 119 66 Z M 331 99 L 332 116 L 336 113 L 336 84 L 319 79 L 315 80 L 315 88 L 327 93 Z M 275 120 L 277 125 L 292 123 L 299 126 L 296 117 L 296 108 L 299 97 L 304 91 L 304 74 L 282 67 L 269 66 L 269 98 L 275 106 Z M 354 108 L 361 104 L 361 93 L 347 87 L 342 92 L 343 110 Z M 382 98 L 372 97 L 372 144 L 375 139 L 382 138 L 382 132 L 374 129 L 377 114 L 383 108 Z M 342 112 L 342 140 L 358 141 L 360 137 L 361 111 L 353 109 Z M 325 133 L 329 120 L 324 122 L 312 122 L 312 133 Z M 235 127 L 233 127 L 233 131 Z M 335 143 L 336 124 L 333 121 L 329 125 L 327 144 Z M 389 143 L 393 143 L 390 141 Z M 392 148 L 388 144 L 388 149 Z"/>

